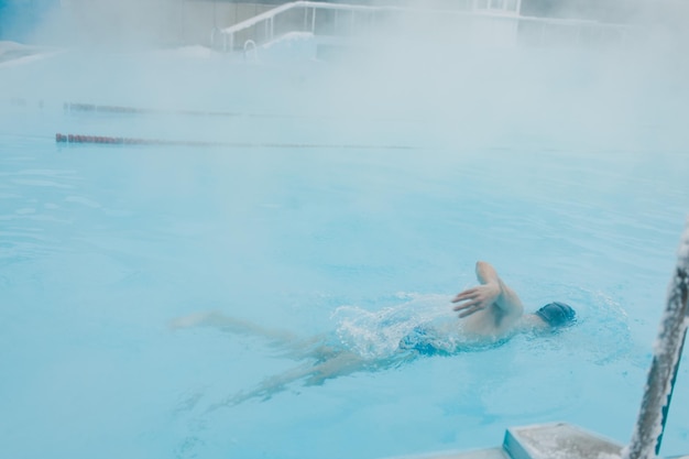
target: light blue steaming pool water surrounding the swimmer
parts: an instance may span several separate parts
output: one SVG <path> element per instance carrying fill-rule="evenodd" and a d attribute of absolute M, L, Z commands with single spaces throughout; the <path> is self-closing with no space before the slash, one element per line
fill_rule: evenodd
<path fill-rule="evenodd" d="M 1 455 L 379 458 L 562 419 L 626 442 L 689 207 L 687 69 L 462 53 L 346 67 L 64 52 L 0 66 Z M 56 132 L 225 145 L 65 145 Z M 567 300 L 579 325 L 210 411 L 303 363 L 260 338 L 167 328 L 218 309 L 384 353 L 385 327 L 448 314 L 479 259 L 527 309 Z M 688 372 L 665 456 L 688 449 Z"/>

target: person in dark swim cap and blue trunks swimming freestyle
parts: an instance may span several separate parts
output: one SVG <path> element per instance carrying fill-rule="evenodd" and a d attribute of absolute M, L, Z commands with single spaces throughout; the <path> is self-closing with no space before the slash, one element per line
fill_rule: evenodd
<path fill-rule="evenodd" d="M 549 303 L 534 314 L 524 314 L 524 306 L 517 294 L 489 263 L 479 261 L 475 274 L 479 285 L 460 292 L 451 299 L 455 304 L 453 310 L 462 319 L 458 324 L 451 324 L 451 328 L 460 328 L 469 337 L 469 341 L 500 345 L 518 332 L 548 334 L 575 324 L 575 310 L 559 302 Z M 298 380 L 303 380 L 306 385 L 322 384 L 328 379 L 359 371 L 398 367 L 419 356 L 450 356 L 460 351 L 436 346 L 439 330 L 424 327 L 416 327 L 404 337 L 398 343 L 397 352 L 392 356 L 365 358 L 343 346 L 329 343 L 326 335 L 299 339 L 289 331 L 264 328 L 218 312 L 177 318 L 169 326 L 173 329 L 212 327 L 234 335 L 263 337 L 281 349 L 284 356 L 306 361 L 293 370 L 264 380 L 254 390 L 237 394 L 209 409 L 236 405 L 254 397 L 266 400 Z"/>

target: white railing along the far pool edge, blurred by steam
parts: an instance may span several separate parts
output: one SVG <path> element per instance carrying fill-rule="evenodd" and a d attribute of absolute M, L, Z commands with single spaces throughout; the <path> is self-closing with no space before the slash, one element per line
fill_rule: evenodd
<path fill-rule="evenodd" d="M 242 51 L 248 40 L 258 46 L 291 32 L 316 36 L 348 37 L 374 33 L 386 23 L 404 24 L 406 35 L 415 29 L 427 32 L 447 28 L 455 32 L 478 30 L 484 25 L 503 35 L 503 43 L 514 45 L 602 45 L 624 44 L 630 28 L 587 20 L 545 19 L 520 15 L 522 0 L 464 0 L 451 10 L 402 7 L 370 7 L 344 3 L 295 1 L 269 10 L 226 29 L 214 29 L 211 47 Z M 429 24 L 425 31 L 422 25 Z M 500 32 L 497 32 L 500 29 Z M 490 41 L 489 34 L 477 34 L 474 42 Z"/>

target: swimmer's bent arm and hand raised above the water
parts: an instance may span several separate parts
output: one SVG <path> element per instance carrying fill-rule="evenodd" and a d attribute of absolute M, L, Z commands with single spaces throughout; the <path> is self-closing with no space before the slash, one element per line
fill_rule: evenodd
<path fill-rule="evenodd" d="M 457 303 L 452 309 L 460 312 L 459 317 L 470 316 L 495 305 L 503 315 L 522 315 L 524 306 L 517 294 L 510 288 L 497 275 L 490 263 L 477 262 L 477 278 L 480 285 L 468 288 L 457 294 L 452 303 Z"/>

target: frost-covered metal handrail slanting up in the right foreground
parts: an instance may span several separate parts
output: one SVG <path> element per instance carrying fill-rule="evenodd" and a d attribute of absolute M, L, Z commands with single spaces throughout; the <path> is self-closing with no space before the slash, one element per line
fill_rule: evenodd
<path fill-rule="evenodd" d="M 681 238 L 654 357 L 630 445 L 624 459 L 652 459 L 660 452 L 679 361 L 689 327 L 689 221 Z"/>

